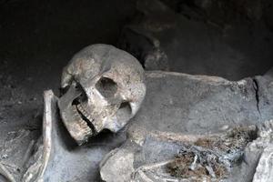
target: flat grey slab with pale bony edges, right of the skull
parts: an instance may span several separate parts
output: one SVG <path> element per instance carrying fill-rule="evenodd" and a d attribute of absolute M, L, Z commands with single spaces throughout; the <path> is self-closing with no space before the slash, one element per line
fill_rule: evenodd
<path fill-rule="evenodd" d="M 264 102 L 257 98 L 251 78 L 230 82 L 215 76 L 147 72 L 147 83 L 147 97 L 132 121 L 147 129 L 216 132 L 225 125 L 256 124 L 271 115 L 272 105 L 258 110 Z M 266 91 L 261 84 L 258 92 Z"/>

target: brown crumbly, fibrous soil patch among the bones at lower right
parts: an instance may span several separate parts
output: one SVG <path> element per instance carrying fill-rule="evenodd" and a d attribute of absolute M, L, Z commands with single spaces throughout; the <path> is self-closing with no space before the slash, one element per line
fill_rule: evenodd
<path fill-rule="evenodd" d="M 225 164 L 223 164 L 218 157 L 213 156 L 209 152 L 200 152 L 200 156 L 205 155 L 206 162 L 201 162 L 197 160 L 197 167 L 192 170 L 190 166 L 194 162 L 194 158 L 196 154 L 194 152 L 190 152 L 192 146 L 203 147 L 209 150 L 217 151 L 222 154 L 230 154 L 232 152 L 240 152 L 243 151 L 244 148 L 248 145 L 248 142 L 251 142 L 257 137 L 256 127 L 245 127 L 238 126 L 233 128 L 232 130 L 227 131 L 222 136 L 216 137 L 205 137 L 200 138 L 193 145 L 187 147 L 187 151 L 182 152 L 175 157 L 175 160 L 167 165 L 167 172 L 170 173 L 172 177 L 178 178 L 195 178 L 197 181 L 201 178 L 214 178 L 216 180 L 220 180 L 221 178 L 227 177 L 228 171 Z M 208 155 L 213 156 L 207 160 Z M 203 159 L 204 159 L 203 158 Z M 238 158 L 236 158 L 238 160 Z M 237 163 L 238 161 L 233 161 Z M 211 167 L 215 177 L 212 177 L 209 174 L 207 166 Z"/>

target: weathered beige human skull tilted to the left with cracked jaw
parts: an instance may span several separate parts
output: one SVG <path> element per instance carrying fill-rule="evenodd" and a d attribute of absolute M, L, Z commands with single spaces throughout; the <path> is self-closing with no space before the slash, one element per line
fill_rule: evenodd
<path fill-rule="evenodd" d="M 117 132 L 136 115 L 145 76 L 134 56 L 112 45 L 89 45 L 63 70 L 60 116 L 78 145 L 103 129 Z"/>

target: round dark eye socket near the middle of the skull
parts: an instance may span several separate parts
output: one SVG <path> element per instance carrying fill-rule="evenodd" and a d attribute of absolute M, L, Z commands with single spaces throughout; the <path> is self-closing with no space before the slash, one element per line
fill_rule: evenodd
<path fill-rule="evenodd" d="M 116 82 L 108 77 L 102 77 L 96 83 L 96 89 L 100 92 L 102 96 L 112 97 L 115 96 L 117 91 Z"/>

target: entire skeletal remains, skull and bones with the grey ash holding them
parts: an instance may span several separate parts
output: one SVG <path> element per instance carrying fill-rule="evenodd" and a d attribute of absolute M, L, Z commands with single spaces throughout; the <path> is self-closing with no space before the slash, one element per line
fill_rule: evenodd
<path fill-rule="evenodd" d="M 43 137 L 18 181 L 272 181 L 271 72 L 255 83 L 266 86 L 257 84 L 258 93 L 251 79 L 229 82 L 213 76 L 145 73 L 125 51 L 112 45 L 87 46 L 64 68 L 61 96 L 45 91 Z M 227 116 L 230 112 L 234 114 Z M 238 125 L 255 137 L 225 136 Z M 101 137 L 103 130 L 116 134 Z M 197 145 L 200 141 L 214 145 L 204 148 L 203 143 Z M 219 141 L 224 149 L 219 150 Z M 182 163 L 187 174 L 177 170 L 181 163 L 174 163 L 179 154 L 192 157 L 188 167 Z M 220 166 L 228 174 L 219 172 Z M 200 167 L 203 172 L 197 176 Z"/>

